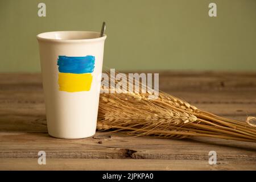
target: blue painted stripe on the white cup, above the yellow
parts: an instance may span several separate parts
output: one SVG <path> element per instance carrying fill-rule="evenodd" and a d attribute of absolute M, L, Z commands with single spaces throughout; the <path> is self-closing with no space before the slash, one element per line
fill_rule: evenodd
<path fill-rule="evenodd" d="M 92 73 L 95 64 L 94 56 L 73 57 L 59 56 L 57 65 L 60 73 Z"/>

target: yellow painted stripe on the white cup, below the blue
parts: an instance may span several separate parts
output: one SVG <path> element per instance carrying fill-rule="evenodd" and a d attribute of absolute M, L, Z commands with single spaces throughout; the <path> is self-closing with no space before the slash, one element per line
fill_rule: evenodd
<path fill-rule="evenodd" d="M 89 91 L 92 78 L 90 73 L 59 73 L 59 90 L 66 92 Z"/>

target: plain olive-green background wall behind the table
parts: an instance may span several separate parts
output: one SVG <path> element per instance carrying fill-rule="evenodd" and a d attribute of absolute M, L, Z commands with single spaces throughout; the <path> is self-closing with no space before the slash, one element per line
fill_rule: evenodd
<path fill-rule="evenodd" d="M 256 71 L 255 0 L 0 0 L 0 72 L 39 72 L 40 32 L 100 31 L 102 21 L 105 68 Z"/>

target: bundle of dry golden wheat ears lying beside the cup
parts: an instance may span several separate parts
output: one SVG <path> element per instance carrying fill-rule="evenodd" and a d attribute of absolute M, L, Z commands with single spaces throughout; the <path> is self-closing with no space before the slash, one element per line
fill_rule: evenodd
<path fill-rule="evenodd" d="M 245 122 L 197 109 L 167 93 L 160 92 L 155 100 L 149 96 L 150 93 L 102 93 L 97 129 L 160 138 L 199 136 L 256 142 L 255 127 Z"/>

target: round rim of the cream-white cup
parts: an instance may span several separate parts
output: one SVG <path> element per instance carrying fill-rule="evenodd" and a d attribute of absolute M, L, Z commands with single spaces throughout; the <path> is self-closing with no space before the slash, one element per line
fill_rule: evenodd
<path fill-rule="evenodd" d="M 105 40 L 106 39 L 106 34 L 104 34 L 104 36 L 102 37 L 98 37 L 98 38 L 91 38 L 91 39 L 52 39 L 52 38 L 44 38 L 43 35 L 45 34 L 54 34 L 54 33 L 75 33 L 75 32 L 86 32 L 86 33 L 96 33 L 98 35 L 100 35 L 100 32 L 94 32 L 94 31 L 51 31 L 51 32 L 42 32 L 38 35 L 36 35 L 36 39 L 40 40 L 40 41 L 44 41 L 44 42 L 59 42 L 59 43 L 78 43 L 78 42 L 98 42 L 101 40 Z"/>

